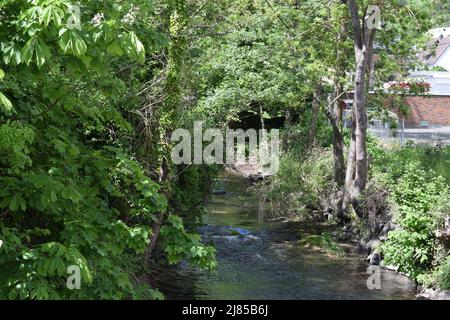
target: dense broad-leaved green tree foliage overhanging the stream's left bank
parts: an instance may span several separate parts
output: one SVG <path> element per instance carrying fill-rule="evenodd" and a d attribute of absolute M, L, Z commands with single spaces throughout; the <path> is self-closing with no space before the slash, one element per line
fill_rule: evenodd
<path fill-rule="evenodd" d="M 167 44 L 141 16 L 157 16 L 150 2 L 83 1 L 80 16 L 65 0 L 0 4 L 0 299 L 162 298 L 127 263 L 169 210 L 130 143 L 136 73 Z M 171 239 L 177 259 L 214 266 L 198 236 Z"/>

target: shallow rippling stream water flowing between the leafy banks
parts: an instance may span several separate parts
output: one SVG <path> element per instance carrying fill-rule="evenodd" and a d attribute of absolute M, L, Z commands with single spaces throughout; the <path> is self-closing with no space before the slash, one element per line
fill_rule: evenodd
<path fill-rule="evenodd" d="M 381 272 L 381 289 L 369 290 L 368 265 L 361 255 L 333 258 L 305 248 L 299 243 L 305 227 L 267 222 L 247 187 L 240 177 L 219 181 L 224 192 L 212 196 L 205 225 L 198 230 L 216 247 L 216 271 L 184 263 L 153 270 L 166 299 L 414 298 L 413 284 L 390 271 Z"/>

